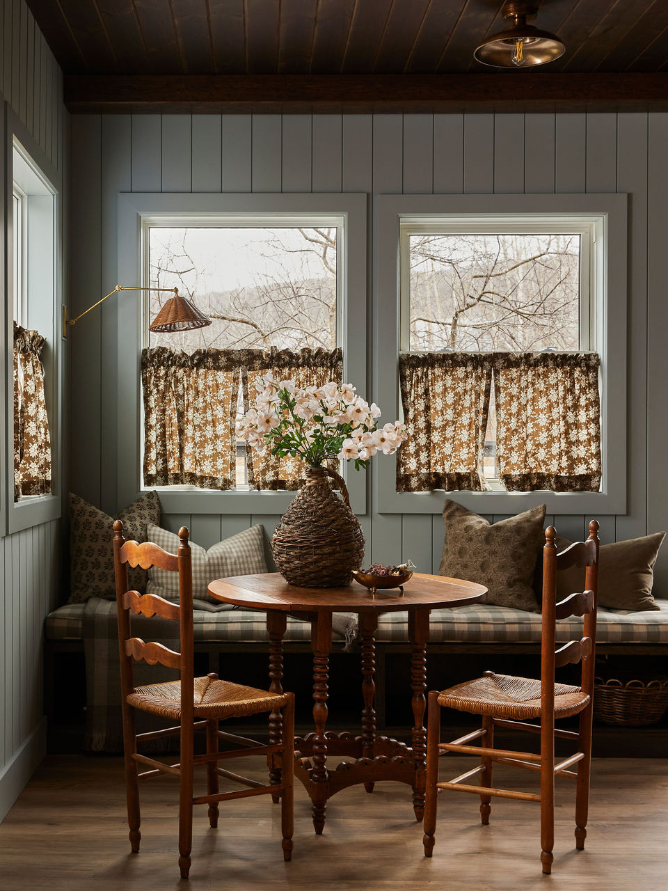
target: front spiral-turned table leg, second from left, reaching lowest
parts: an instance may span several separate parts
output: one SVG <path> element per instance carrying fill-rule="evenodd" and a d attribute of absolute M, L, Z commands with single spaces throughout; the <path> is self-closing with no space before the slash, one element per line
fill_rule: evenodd
<path fill-rule="evenodd" d="M 311 625 L 314 649 L 314 723 L 315 732 L 311 758 L 311 800 L 313 801 L 314 830 L 322 835 L 325 826 L 329 782 L 327 775 L 328 682 L 330 680 L 331 613 L 319 613 Z"/>

